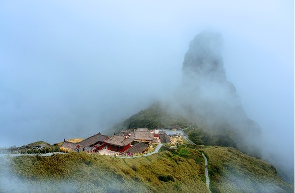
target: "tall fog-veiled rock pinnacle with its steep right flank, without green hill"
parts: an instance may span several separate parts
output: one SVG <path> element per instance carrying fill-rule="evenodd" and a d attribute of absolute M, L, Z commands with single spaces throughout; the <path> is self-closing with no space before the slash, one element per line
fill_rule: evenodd
<path fill-rule="evenodd" d="M 205 31 L 190 43 L 182 66 L 181 106 L 190 108 L 202 127 L 233 131 L 237 148 L 257 155 L 260 127 L 244 112 L 235 87 L 226 78 L 222 36 Z"/>

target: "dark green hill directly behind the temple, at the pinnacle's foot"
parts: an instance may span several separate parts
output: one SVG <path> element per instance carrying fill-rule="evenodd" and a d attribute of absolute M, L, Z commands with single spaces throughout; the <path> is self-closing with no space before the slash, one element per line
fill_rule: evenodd
<path fill-rule="evenodd" d="M 189 108 L 185 112 L 190 112 Z M 231 127 L 220 125 L 218 131 L 210 130 L 200 126 L 200 120 L 196 120 L 193 113 L 180 113 L 173 111 L 169 106 L 160 103 L 154 103 L 149 108 L 140 111 L 131 116 L 122 123 L 113 128 L 112 132 L 118 132 L 121 129 L 130 128 L 149 128 L 154 129 L 158 126 L 167 128 L 170 125 L 179 125 L 189 138 L 197 145 L 217 145 L 225 147 L 236 147 L 235 133 Z"/>

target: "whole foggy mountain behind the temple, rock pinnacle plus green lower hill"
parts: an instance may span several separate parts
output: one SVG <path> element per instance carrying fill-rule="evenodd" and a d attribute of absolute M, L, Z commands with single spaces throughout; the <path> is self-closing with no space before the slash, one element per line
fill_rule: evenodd
<path fill-rule="evenodd" d="M 226 79 L 221 48 L 219 33 L 197 35 L 184 57 L 181 87 L 116 128 L 194 125 L 214 137 L 206 145 L 220 145 L 217 140 L 227 137 L 223 146 L 258 156 L 260 127 L 247 117 L 235 87 Z"/>

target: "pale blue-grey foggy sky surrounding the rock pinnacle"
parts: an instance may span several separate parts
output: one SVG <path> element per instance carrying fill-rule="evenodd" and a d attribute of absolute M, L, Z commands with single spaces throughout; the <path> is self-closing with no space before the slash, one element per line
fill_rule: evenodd
<path fill-rule="evenodd" d="M 293 1 L 1 1 L 0 147 L 86 138 L 140 111 L 180 85 L 208 28 L 247 115 L 293 155 Z"/>

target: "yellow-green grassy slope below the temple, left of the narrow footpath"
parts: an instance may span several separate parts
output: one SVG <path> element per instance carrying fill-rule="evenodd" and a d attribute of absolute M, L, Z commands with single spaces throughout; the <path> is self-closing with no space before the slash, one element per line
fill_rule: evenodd
<path fill-rule="evenodd" d="M 177 153 L 163 151 L 131 159 L 75 152 L 50 157 L 21 156 L 13 157 L 11 166 L 18 179 L 33 184 L 32 187 L 36 183 L 33 191 L 44 182 L 51 184 L 50 190 L 60 191 L 58 184 L 65 181 L 82 192 L 207 191 L 203 159 L 194 149 L 180 148 Z M 160 181 L 159 175 L 171 175 L 175 182 Z"/>

